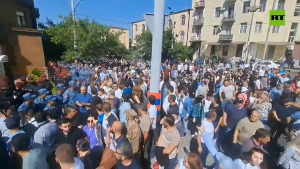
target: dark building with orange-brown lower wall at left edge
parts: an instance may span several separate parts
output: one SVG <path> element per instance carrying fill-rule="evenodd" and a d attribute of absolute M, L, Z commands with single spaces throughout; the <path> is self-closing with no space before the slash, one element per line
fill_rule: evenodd
<path fill-rule="evenodd" d="M 33 68 L 43 70 L 42 32 L 36 23 L 39 10 L 33 0 L 9 0 L 0 4 L 0 56 L 4 59 L 0 61 L 0 76 L 17 78 Z"/>

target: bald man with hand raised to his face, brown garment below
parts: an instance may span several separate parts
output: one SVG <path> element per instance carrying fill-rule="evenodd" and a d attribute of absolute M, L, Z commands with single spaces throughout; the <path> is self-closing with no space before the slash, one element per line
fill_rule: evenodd
<path fill-rule="evenodd" d="M 107 137 L 106 137 L 106 144 L 107 147 L 105 148 L 100 168 L 114 168 L 117 164 L 117 158 L 115 152 L 117 147 L 124 142 L 128 142 L 126 136 L 122 134 L 122 129 L 124 125 L 121 121 L 114 121 L 111 127 L 107 128 Z"/>

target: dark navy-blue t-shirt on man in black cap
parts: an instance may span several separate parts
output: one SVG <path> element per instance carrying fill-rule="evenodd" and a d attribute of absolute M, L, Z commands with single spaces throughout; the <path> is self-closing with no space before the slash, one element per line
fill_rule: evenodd
<path fill-rule="evenodd" d="M 247 116 L 246 109 L 242 107 L 237 108 L 233 103 L 228 103 L 224 112 L 227 114 L 227 128 L 234 129 L 242 118 Z"/>

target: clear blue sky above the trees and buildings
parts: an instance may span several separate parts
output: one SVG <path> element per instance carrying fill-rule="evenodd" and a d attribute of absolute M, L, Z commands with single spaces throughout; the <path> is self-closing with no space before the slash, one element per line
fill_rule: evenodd
<path fill-rule="evenodd" d="M 75 0 L 75 6 L 79 0 Z M 59 15 L 71 12 L 71 0 L 34 0 L 39 8 L 38 22 L 45 22 L 46 18 L 54 23 L 60 21 Z M 165 0 L 165 13 L 172 10 L 180 11 L 192 7 L 192 0 Z M 88 18 L 99 24 L 129 29 L 131 22 L 143 20 L 144 13 L 153 13 L 154 0 L 81 0 L 76 8 L 76 18 Z"/>

